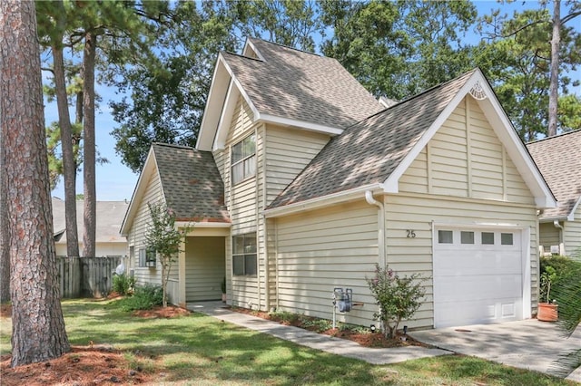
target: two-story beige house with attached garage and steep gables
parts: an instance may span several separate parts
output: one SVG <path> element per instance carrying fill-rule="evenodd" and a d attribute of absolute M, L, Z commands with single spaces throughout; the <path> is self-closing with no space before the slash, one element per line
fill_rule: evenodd
<path fill-rule="evenodd" d="M 336 60 L 257 39 L 220 53 L 196 150 L 150 150 L 122 227 L 141 283 L 159 282 L 143 228 L 160 198 L 194 225 L 172 303 L 219 299 L 220 265 L 229 304 L 330 319 L 349 287 L 363 305 L 340 321 L 369 325 L 366 277 L 389 264 L 426 278 L 410 328 L 530 317 L 537 210 L 556 206 L 478 69 L 382 104 Z"/>

